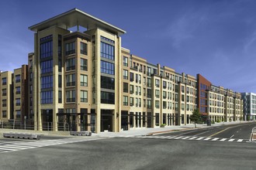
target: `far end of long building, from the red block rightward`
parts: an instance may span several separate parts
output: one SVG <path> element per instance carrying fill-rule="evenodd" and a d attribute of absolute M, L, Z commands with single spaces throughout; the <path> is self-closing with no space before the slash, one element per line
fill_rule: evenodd
<path fill-rule="evenodd" d="M 240 93 L 216 87 L 198 74 L 198 104 L 203 121 L 239 121 L 243 118 L 244 104 Z"/>

